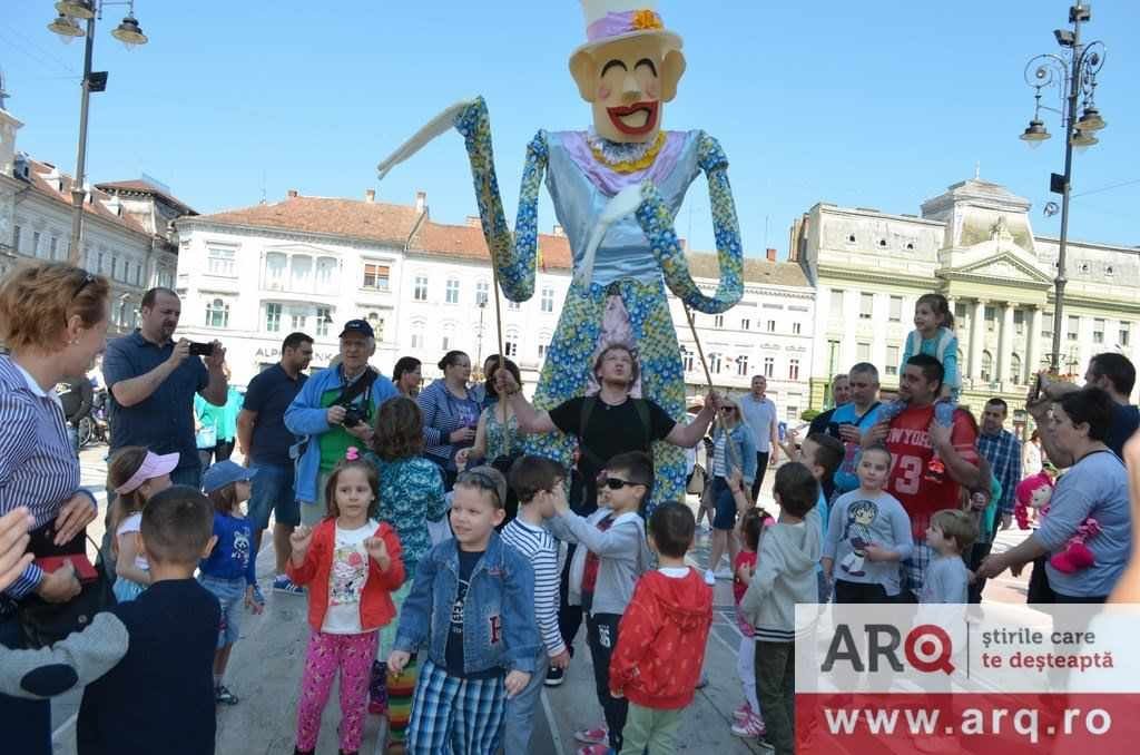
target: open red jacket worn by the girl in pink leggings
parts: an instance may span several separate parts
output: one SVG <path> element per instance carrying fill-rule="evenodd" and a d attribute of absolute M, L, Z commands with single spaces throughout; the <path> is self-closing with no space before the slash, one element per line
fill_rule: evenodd
<path fill-rule="evenodd" d="M 391 563 L 386 571 L 373 558 L 368 559 L 368 579 L 360 593 L 360 627 L 372 632 L 396 617 L 396 604 L 391 592 L 404 584 L 404 560 L 400 558 L 400 541 L 396 530 L 381 525 L 374 537 L 384 538 Z M 336 544 L 336 520 L 325 519 L 312 533 L 312 542 L 304 554 L 304 562 L 294 566 L 288 562 L 288 577 L 299 585 L 309 587 L 309 626 L 320 632 L 328 611 L 328 577 L 333 570 L 333 549 Z"/>

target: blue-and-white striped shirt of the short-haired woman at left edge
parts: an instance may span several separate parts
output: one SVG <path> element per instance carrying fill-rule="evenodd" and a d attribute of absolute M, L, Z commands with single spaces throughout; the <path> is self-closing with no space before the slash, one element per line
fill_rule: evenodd
<path fill-rule="evenodd" d="M 79 458 L 55 391 L 44 391 L 9 357 L 0 357 L 0 515 L 27 506 L 41 527 L 80 492 Z M 28 566 L 5 594 L 23 598 L 42 578 Z"/>

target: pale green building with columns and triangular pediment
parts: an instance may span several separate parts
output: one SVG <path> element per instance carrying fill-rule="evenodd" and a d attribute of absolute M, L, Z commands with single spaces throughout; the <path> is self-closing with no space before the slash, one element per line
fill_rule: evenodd
<path fill-rule="evenodd" d="M 1034 235 L 1029 208 L 975 178 L 923 202 L 920 216 L 820 203 L 797 220 L 791 255 L 817 292 L 812 405 L 856 362 L 896 388 L 915 301 L 938 292 L 954 312 L 962 404 L 978 412 L 1000 396 L 1020 406 L 1049 364 L 1058 252 L 1056 238 Z M 1082 376 L 1101 351 L 1140 362 L 1140 249 L 1070 241 L 1066 267 L 1061 372 Z"/>

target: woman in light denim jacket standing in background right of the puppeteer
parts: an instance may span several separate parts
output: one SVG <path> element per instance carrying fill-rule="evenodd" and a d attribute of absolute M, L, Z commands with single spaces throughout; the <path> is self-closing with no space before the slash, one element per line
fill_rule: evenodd
<path fill-rule="evenodd" d="M 756 441 L 748 423 L 740 416 L 740 406 L 735 399 L 720 400 L 720 416 L 712 432 L 712 461 L 709 464 L 712 474 L 712 500 L 716 501 L 716 515 L 712 518 L 712 542 L 709 553 L 709 568 L 705 573 L 705 582 L 715 585 L 717 577 L 732 579 L 732 569 L 717 571 L 720 558 L 727 551 L 728 563 L 736 560 L 740 542 L 733 531 L 736 527 L 736 502 L 728 488 L 728 479 L 735 470 L 744 481 L 748 490 L 756 479 Z"/>

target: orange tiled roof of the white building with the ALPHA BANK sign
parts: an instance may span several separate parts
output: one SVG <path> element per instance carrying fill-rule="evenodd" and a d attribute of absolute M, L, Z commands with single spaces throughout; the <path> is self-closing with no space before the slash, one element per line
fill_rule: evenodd
<path fill-rule="evenodd" d="M 223 226 L 284 228 L 315 234 L 334 234 L 404 246 L 415 227 L 414 206 L 361 202 L 323 196 L 291 196 L 274 204 L 182 218 L 178 222 L 205 221 Z"/>

